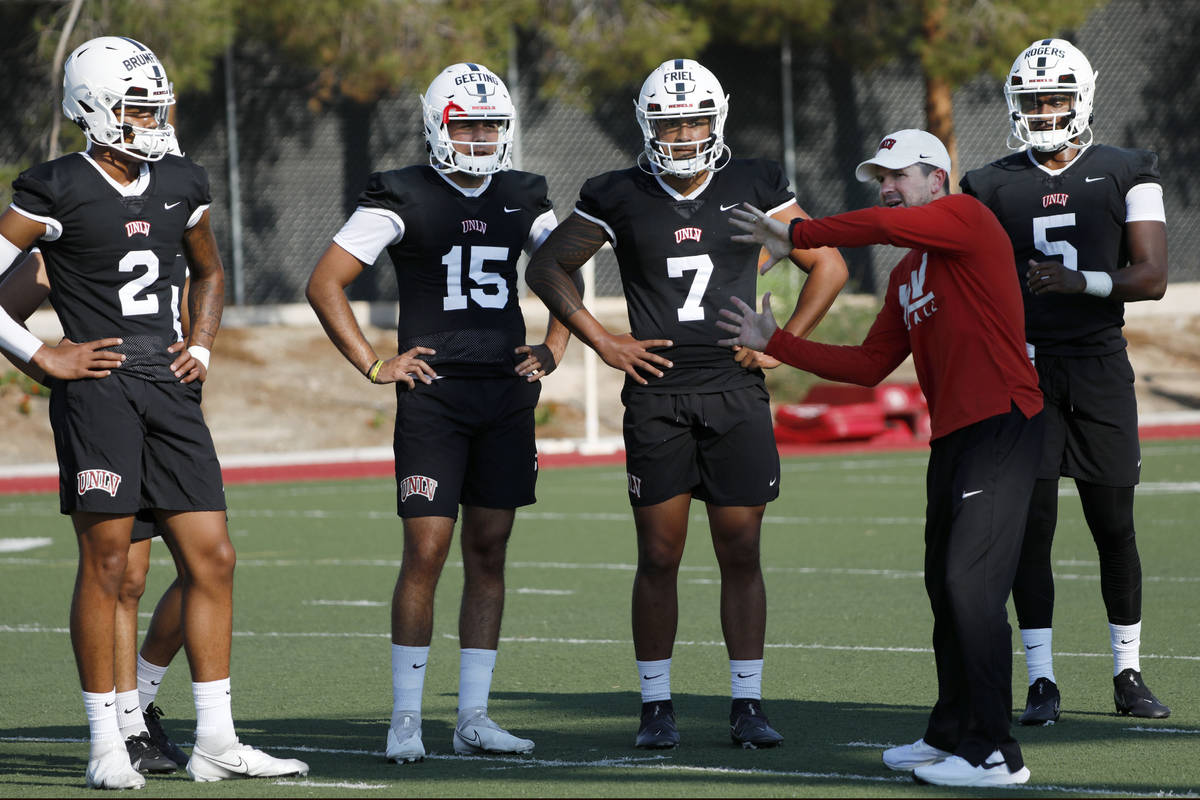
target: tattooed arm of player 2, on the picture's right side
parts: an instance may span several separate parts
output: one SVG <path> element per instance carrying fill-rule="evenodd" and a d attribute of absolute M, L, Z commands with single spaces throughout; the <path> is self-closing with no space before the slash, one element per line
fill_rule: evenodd
<path fill-rule="evenodd" d="M 212 349 L 217 329 L 221 327 L 221 313 L 224 311 L 224 266 L 221 264 L 208 211 L 184 234 L 184 257 L 192 276 L 187 290 L 191 330 L 187 336 L 188 349 L 179 354 L 170 368 L 181 383 L 188 384 L 193 380 L 203 381 L 208 377 L 208 366 L 194 357 L 191 349 Z"/>

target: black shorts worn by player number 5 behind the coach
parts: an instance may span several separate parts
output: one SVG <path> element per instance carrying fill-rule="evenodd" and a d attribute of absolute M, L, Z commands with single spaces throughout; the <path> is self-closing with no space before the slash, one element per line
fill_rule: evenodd
<path fill-rule="evenodd" d="M 1038 477 L 1066 475 L 1099 486 L 1136 486 L 1138 398 L 1126 351 L 1038 354 L 1037 368 L 1046 419 Z"/>

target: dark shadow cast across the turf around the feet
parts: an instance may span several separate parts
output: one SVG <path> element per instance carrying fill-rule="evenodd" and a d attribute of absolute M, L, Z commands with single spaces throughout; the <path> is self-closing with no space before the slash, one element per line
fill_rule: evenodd
<path fill-rule="evenodd" d="M 389 763 L 383 757 L 386 716 L 244 718 L 239 721 L 238 730 L 244 741 L 256 747 L 282 757 L 304 758 L 311 766 L 310 778 L 313 781 L 361 783 L 415 780 L 438 783 L 478 778 L 486 780 L 488 793 L 494 795 L 520 795 L 522 787 L 530 781 L 542 787 L 550 784 L 548 792 L 562 795 L 578 794 L 577 789 L 572 790 L 572 784 L 580 782 L 629 783 L 629 792 L 638 794 L 644 793 L 646 787 L 670 781 L 676 787 L 694 784 L 697 793 L 703 792 L 703 784 L 728 783 L 739 787 L 739 793 L 750 794 L 768 787 L 802 783 L 829 786 L 830 789 L 835 786 L 858 786 L 866 790 L 870 783 L 864 778 L 896 781 L 899 786 L 905 786 L 906 776 L 882 765 L 881 748 L 913 741 L 922 735 L 928 717 L 928 709 L 912 705 L 768 698 L 763 708 L 784 734 L 784 745 L 773 750 L 746 751 L 730 741 L 727 697 L 676 694 L 674 705 L 682 745 L 673 751 L 641 751 L 632 746 L 640 703 L 637 696 L 629 692 L 493 693 L 493 717 L 514 733 L 538 742 L 532 758 L 454 757 L 454 727 L 449 718 L 425 720 L 424 740 L 432 758 L 421 764 L 406 765 Z M 535 723 L 528 724 L 528 720 Z M 1064 716 L 1060 724 L 1050 728 L 1014 726 L 1014 733 L 1026 746 L 1032 783 L 1051 784 L 1060 783 L 1060 780 L 1045 771 L 1039 772 L 1037 748 L 1052 747 L 1055 742 L 1117 742 L 1127 736 L 1123 728 L 1128 724 L 1128 717 L 1081 711 Z M 168 733 L 178 741 L 188 742 L 191 732 L 187 727 L 188 723 L 176 721 Z M 64 742 L 49 748 L 37 742 L 4 742 L 4 748 L 8 751 L 4 759 L 7 776 L 0 778 L 0 786 L 82 784 L 86 744 L 67 740 L 78 739 L 83 733 L 82 726 L 0 729 L 0 736 Z M 1162 735 L 1181 738 L 1184 734 Z M 65 754 L 74 751 L 78 754 Z M 638 765 L 686 769 L 632 769 Z M 535 772 L 530 772 L 530 768 L 536 768 Z M 716 769 L 737 771 L 708 771 Z M 186 781 L 187 776 L 180 771 L 150 780 Z M 560 788 L 554 789 L 556 784 Z M 1133 794 L 1184 787 L 1105 781 L 1104 788 Z M 929 792 L 928 787 L 922 790 Z"/>

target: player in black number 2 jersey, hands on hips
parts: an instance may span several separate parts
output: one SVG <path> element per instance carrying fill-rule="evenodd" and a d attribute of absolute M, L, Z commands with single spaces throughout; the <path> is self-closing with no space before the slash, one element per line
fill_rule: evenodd
<path fill-rule="evenodd" d="M 208 176 L 168 155 L 172 103 L 166 72 L 144 44 L 106 36 L 79 46 L 64 66 L 62 108 L 89 150 L 22 173 L 0 216 L 0 265 L 40 246 L 67 337 L 43 345 L 0 312 L 0 345 L 58 379 L 50 425 L 61 509 L 79 545 L 71 640 L 91 733 L 86 781 L 96 788 L 145 784 L 120 738 L 114 691 L 115 606 L 134 515 L 157 519 L 186 569 L 184 638 L 197 705 L 188 774 L 217 781 L 308 770 L 240 744 L 234 730 L 235 555 L 200 413 L 224 278 Z M 182 339 L 181 246 L 192 272 L 186 350 L 172 347 Z"/>

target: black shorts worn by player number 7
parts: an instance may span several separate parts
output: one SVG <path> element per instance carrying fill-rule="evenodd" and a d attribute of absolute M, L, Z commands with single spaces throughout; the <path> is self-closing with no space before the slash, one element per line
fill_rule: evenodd
<path fill-rule="evenodd" d="M 625 391 L 629 501 L 648 506 L 691 494 L 719 506 L 779 497 L 779 451 L 762 384 L 724 392 Z"/>

